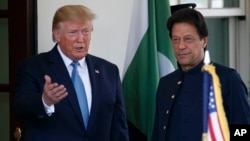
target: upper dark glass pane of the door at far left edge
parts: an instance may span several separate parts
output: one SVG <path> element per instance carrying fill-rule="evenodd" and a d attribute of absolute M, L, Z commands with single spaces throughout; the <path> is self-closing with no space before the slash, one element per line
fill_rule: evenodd
<path fill-rule="evenodd" d="M 0 83 L 9 83 L 8 19 L 0 18 Z"/>

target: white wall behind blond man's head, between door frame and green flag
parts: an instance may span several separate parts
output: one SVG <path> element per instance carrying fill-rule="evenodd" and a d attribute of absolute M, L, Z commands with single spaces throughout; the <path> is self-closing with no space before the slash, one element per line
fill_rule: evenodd
<path fill-rule="evenodd" d="M 38 52 L 52 49 L 52 18 L 55 11 L 65 4 L 83 4 L 96 15 L 89 53 L 113 62 L 123 74 L 132 0 L 39 0 Z"/>

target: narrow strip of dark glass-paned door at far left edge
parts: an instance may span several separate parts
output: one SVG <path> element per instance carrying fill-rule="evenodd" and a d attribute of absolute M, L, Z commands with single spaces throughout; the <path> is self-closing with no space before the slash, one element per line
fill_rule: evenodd
<path fill-rule="evenodd" d="M 8 35 L 8 1 L 0 1 L 0 137 L 9 141 L 9 35 Z"/>

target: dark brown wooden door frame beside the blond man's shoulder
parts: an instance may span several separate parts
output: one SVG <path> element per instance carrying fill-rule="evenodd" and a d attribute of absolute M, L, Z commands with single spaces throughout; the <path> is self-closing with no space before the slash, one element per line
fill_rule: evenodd
<path fill-rule="evenodd" d="M 16 141 L 14 138 L 16 127 L 20 127 L 22 134 L 25 133 L 13 110 L 13 100 L 16 93 L 16 69 L 20 60 L 37 54 L 37 0 L 8 0 L 7 11 L 9 21 L 10 141 Z"/>

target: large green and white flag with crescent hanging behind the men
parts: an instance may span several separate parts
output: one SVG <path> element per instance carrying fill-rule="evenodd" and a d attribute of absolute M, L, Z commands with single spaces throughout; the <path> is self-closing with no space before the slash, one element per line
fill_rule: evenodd
<path fill-rule="evenodd" d="M 134 1 L 122 87 L 127 118 L 148 140 L 159 79 L 176 67 L 166 29 L 169 15 L 167 0 Z"/>

